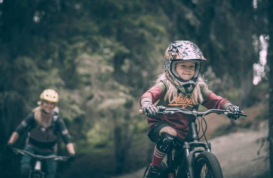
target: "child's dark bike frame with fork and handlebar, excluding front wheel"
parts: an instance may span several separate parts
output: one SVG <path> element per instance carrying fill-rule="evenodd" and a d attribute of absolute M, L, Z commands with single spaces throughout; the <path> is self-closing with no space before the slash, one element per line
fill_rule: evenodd
<path fill-rule="evenodd" d="M 164 112 L 166 111 L 166 112 Z M 139 111 L 141 112 L 141 111 Z M 200 138 L 198 135 L 197 130 L 197 124 L 196 119 L 198 117 L 203 117 L 206 114 L 209 113 L 222 113 L 222 114 L 232 114 L 230 112 L 227 112 L 225 110 L 219 110 L 219 109 L 210 109 L 206 112 L 197 112 L 194 111 L 182 111 L 179 108 L 167 108 L 164 109 L 163 112 L 160 112 L 161 114 L 173 114 L 175 112 L 181 112 L 181 114 L 186 115 L 189 117 L 189 133 L 185 140 L 183 141 L 183 144 L 179 144 L 179 141 L 176 142 L 177 149 L 175 149 L 175 155 L 174 158 L 172 157 L 172 152 L 167 153 L 167 166 L 168 168 L 163 171 L 163 175 L 168 175 L 169 178 L 174 178 L 174 174 L 177 176 L 179 174 L 179 171 L 181 171 L 181 166 L 187 165 L 187 172 L 188 178 L 195 178 L 194 173 L 194 162 L 196 158 L 196 153 L 201 153 L 204 151 L 210 152 L 210 143 L 209 142 L 200 142 Z M 247 116 L 245 114 L 238 114 L 241 116 Z M 204 149 L 195 149 L 195 148 L 204 148 Z M 183 155 L 184 154 L 184 155 Z M 186 163 L 186 165 L 185 165 Z M 176 170 L 180 166 L 178 172 Z"/>

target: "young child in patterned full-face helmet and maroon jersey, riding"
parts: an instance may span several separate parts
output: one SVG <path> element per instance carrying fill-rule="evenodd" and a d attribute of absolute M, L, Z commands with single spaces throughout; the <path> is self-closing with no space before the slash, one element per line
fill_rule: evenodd
<path fill-rule="evenodd" d="M 159 106 L 198 110 L 202 104 L 207 109 L 224 109 L 234 114 L 242 113 L 238 106 L 210 91 L 199 74 L 206 60 L 200 48 L 190 41 L 171 43 L 164 54 L 164 73 L 155 85 L 140 98 L 143 112 L 148 116 L 148 137 L 155 142 L 152 162 L 144 178 L 157 178 L 165 155 L 172 151 L 177 137 L 185 139 L 188 117 L 176 113 L 157 115 Z M 153 104 L 157 102 L 157 105 Z M 227 115 L 238 119 L 237 115 Z"/>

